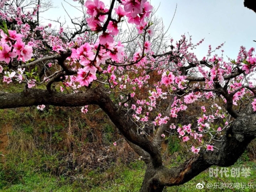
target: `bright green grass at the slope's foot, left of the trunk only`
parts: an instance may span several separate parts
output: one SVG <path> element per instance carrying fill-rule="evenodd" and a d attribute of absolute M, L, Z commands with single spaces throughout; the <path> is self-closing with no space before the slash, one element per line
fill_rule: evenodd
<path fill-rule="evenodd" d="M 14 176 L 14 183 L 10 181 L 3 185 L 2 180 L 0 191 L 139 191 L 143 175 L 144 164 L 141 161 L 126 166 L 113 166 L 103 173 L 95 170 L 72 178 L 26 171 L 17 174 L 16 178 Z"/>

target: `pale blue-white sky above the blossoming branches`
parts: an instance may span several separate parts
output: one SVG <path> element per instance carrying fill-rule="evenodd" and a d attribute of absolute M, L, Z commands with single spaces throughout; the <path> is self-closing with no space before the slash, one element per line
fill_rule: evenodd
<path fill-rule="evenodd" d="M 67 2 L 78 5 L 71 0 Z M 103 2 L 108 4 L 110 0 Z M 163 18 L 166 28 L 173 18 L 177 4 L 176 15 L 168 31 L 174 40 L 179 40 L 180 36 L 187 35 L 187 32 L 193 36 L 195 43 L 205 38 L 203 44 L 195 50 L 199 59 L 207 54 L 210 44 L 215 48 L 225 42 L 224 55 L 233 59 L 236 59 L 240 46 L 245 46 L 247 49 L 256 47 L 256 42 L 252 41 L 256 40 L 256 13 L 245 8 L 243 2 L 243 0 L 151 0 L 154 7 L 160 4 L 157 15 Z M 63 0 L 53 0 L 53 3 L 58 8 L 44 13 L 42 15 L 44 18 L 56 19 L 60 15 L 63 17 L 65 11 L 61 3 L 70 12 L 70 16 L 79 14 L 79 11 Z M 67 16 L 66 19 L 68 20 Z"/>

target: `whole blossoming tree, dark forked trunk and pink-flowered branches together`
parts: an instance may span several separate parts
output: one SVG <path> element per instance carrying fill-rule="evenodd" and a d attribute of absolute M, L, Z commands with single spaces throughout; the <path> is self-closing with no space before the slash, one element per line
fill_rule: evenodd
<path fill-rule="evenodd" d="M 98 105 L 146 163 L 141 191 L 162 191 L 212 165 L 234 164 L 256 137 L 254 49 L 241 47 L 236 60 L 224 61 L 223 51 L 216 54 L 223 44 L 215 50 L 209 46 L 200 60 L 190 50 L 203 39 L 193 44 L 191 37 L 182 35 L 176 43 L 170 40 L 169 51 L 154 54 L 148 40 L 154 24 L 146 22 L 153 7 L 146 0 L 112 0 L 108 8 L 89 0 L 84 6 L 90 30 L 81 33 L 82 26 L 72 39 L 63 35 L 62 27 L 58 34 L 49 30 L 51 25 L 31 29 L 26 22 L 39 6 L 32 13 L 13 7 L 1 12 L 3 21 L 18 22 L 15 29 L 5 22 L 1 28 L 0 77 L 12 86 L 23 83 L 24 89 L 1 92 L 0 109 L 83 106 L 81 111 L 87 113 L 88 105 Z M 134 39 L 140 49 L 132 57 L 118 41 L 124 19 L 137 25 L 142 37 Z M 181 114 L 198 105 L 196 122 L 179 122 Z M 171 135 L 177 135 L 193 156 L 167 168 L 161 146 Z"/>

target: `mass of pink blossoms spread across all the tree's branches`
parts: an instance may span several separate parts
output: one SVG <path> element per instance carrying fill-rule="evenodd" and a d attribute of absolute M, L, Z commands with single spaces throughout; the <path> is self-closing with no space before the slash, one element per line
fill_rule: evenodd
<path fill-rule="evenodd" d="M 74 0 L 76 1 L 76 0 Z M 1 46 L 0 46 L 0 60 L 5 61 L 7 64 L 15 60 L 26 62 L 33 56 L 32 47 L 37 49 L 44 48 L 41 39 L 33 38 L 35 33 L 39 33 L 44 38 L 44 42 L 47 42 L 48 46 L 52 48 L 50 50 L 51 54 L 61 53 L 61 51 L 66 51 L 72 49 L 71 57 L 67 58 L 67 66 L 69 69 L 77 72 L 76 75 L 67 75 L 63 78 L 63 82 L 60 86 L 60 91 L 62 92 L 64 88 L 72 89 L 75 93 L 76 89 L 81 86 L 89 86 L 94 80 L 97 80 L 97 76 L 101 75 L 101 80 L 97 80 L 97 83 L 104 83 L 105 86 L 109 86 L 111 90 L 110 93 L 120 93 L 118 97 L 119 107 L 124 110 L 133 113 L 133 118 L 138 124 L 138 127 L 142 129 L 141 134 L 146 133 L 141 127 L 149 126 L 160 126 L 167 124 L 167 122 L 172 118 L 177 118 L 178 113 L 185 111 L 188 108 L 188 104 L 193 103 L 199 98 L 211 99 L 215 98 L 216 93 L 214 93 L 216 84 L 219 83 L 222 86 L 227 83 L 226 89 L 228 94 L 233 94 L 233 104 L 239 105 L 240 100 L 246 95 L 251 94 L 247 89 L 242 88 L 244 82 L 248 83 L 250 88 L 253 88 L 252 82 L 250 82 L 249 77 L 255 71 L 256 67 L 256 57 L 252 55 L 254 49 L 250 49 L 248 52 L 244 47 L 240 48 L 239 56 L 236 61 L 225 62 L 223 61 L 223 54 L 221 57 L 212 54 L 212 48 L 209 46 L 208 54 L 202 59 L 202 62 L 196 57 L 194 53 L 190 53 L 190 49 L 196 48 L 203 42 L 200 40 L 197 44 L 192 44 L 191 37 L 186 38 L 185 35 L 181 36 L 181 40 L 176 43 L 173 39 L 170 40 L 172 43 L 172 56 L 168 55 L 161 57 L 161 59 L 153 58 L 153 51 L 151 50 L 151 38 L 145 40 L 143 43 L 139 42 L 139 49 L 134 55 L 124 54 L 124 45 L 121 41 L 115 42 L 114 38 L 119 34 L 119 23 L 122 22 L 123 17 L 127 17 L 128 23 L 137 25 L 137 30 L 139 34 L 143 33 L 143 36 L 148 33 L 148 36 L 152 36 L 154 33 L 152 23 L 145 22 L 145 18 L 151 13 L 152 6 L 146 0 L 121 0 L 116 1 L 116 8 L 106 9 L 103 2 L 99 0 L 88 0 L 85 2 L 84 6 L 87 8 L 87 13 L 90 18 L 87 18 L 88 26 L 92 31 L 95 31 L 99 35 L 96 42 L 92 43 L 90 40 L 89 33 L 77 35 L 76 39 L 69 43 L 62 41 L 62 35 L 64 28 L 59 29 L 59 34 L 48 33 L 46 29 L 49 29 L 52 25 L 48 26 L 37 26 L 32 32 L 29 24 L 23 23 L 26 19 L 32 19 L 39 9 L 37 6 L 34 10 L 23 13 L 22 8 L 17 8 L 13 10 L 12 13 L 17 15 L 17 18 L 11 18 L 8 13 L 3 13 L 0 11 L 0 17 L 3 20 L 15 19 L 17 22 L 17 28 L 21 32 L 18 34 L 16 31 L 8 30 L 8 33 L 1 31 Z M 0 7 L 3 6 L 2 2 Z M 112 13 L 115 12 L 115 13 Z M 18 30 L 17 30 L 18 31 Z M 145 37 L 145 36 L 144 36 Z M 28 44 L 22 41 L 23 38 L 29 39 Z M 223 46 L 216 47 L 216 50 Z M 222 51 L 223 52 L 223 51 Z M 145 54 L 147 53 L 147 57 Z M 37 54 L 37 53 L 35 53 Z M 42 55 L 37 54 L 37 58 L 42 57 Z M 157 60 L 158 59 L 158 60 Z M 156 66 L 156 62 L 158 65 Z M 205 64 L 208 63 L 208 65 Z M 126 63 L 127 66 L 125 66 Z M 52 63 L 48 64 L 48 67 L 52 67 Z M 106 66 L 108 65 L 108 66 Z M 189 65 L 189 66 L 188 66 Z M 119 67 L 118 67 L 119 66 Z M 209 66 L 209 67 L 207 67 Z M 234 67 L 235 66 L 235 67 Z M 17 71 L 6 70 L 4 71 L 4 66 L 0 65 L 0 73 L 3 73 L 3 81 L 6 83 L 12 82 L 14 79 L 18 82 L 26 82 L 28 88 L 35 87 L 36 80 L 38 79 L 36 75 L 24 75 L 24 70 L 18 69 Z M 184 75 L 184 67 L 191 67 L 187 70 L 188 74 L 201 73 L 201 77 L 205 79 L 203 83 L 195 83 L 191 86 L 191 80 Z M 7 68 L 5 68 L 7 69 Z M 187 68 L 186 68 L 187 69 Z M 51 69 L 53 70 L 53 68 Z M 154 82 L 152 84 L 148 83 L 150 75 L 148 71 L 157 71 L 159 76 L 162 75 L 161 80 Z M 245 74 L 242 72 L 245 71 Z M 102 73 L 101 73 L 102 72 Z M 237 74 L 236 79 L 228 79 L 228 75 Z M 35 73 L 34 73 L 35 74 Z M 29 77 L 29 78 L 27 78 Z M 49 80 L 50 77 L 45 77 L 45 81 Z M 222 84 L 223 83 L 223 84 Z M 137 94 L 141 89 L 144 93 L 149 92 L 148 95 L 143 97 L 143 94 Z M 254 88 L 253 88 L 254 89 Z M 182 90 L 183 93 L 179 97 L 173 97 L 177 94 L 177 91 Z M 137 92 L 136 92 L 137 91 Z M 136 93 L 136 94 L 135 94 Z M 124 103 L 128 97 L 131 96 L 134 103 L 129 102 Z M 252 94 L 251 94 L 252 95 Z M 168 102 L 173 102 L 169 110 L 169 114 L 162 117 L 162 100 L 168 98 Z M 226 99 L 221 96 L 224 102 Z M 164 104 L 165 105 L 165 104 Z M 44 105 L 38 105 L 38 110 L 43 110 Z M 198 148 L 195 143 L 191 144 L 191 151 L 195 154 L 200 152 L 200 147 L 206 148 L 206 151 L 213 151 L 214 147 L 210 144 L 203 144 L 203 135 L 211 132 L 215 132 L 216 135 L 221 135 L 220 132 L 225 129 L 225 126 L 220 125 L 220 127 L 212 126 L 215 119 L 224 119 L 226 115 L 225 112 L 217 105 L 214 104 L 212 107 L 214 110 L 206 110 L 205 106 L 201 107 L 201 115 L 198 117 L 196 125 L 177 125 L 177 132 L 181 141 L 185 145 L 189 146 L 193 139 L 196 143 L 201 142 L 202 146 Z M 256 99 L 252 102 L 253 111 L 256 111 Z M 88 106 L 84 106 L 81 109 L 82 113 L 88 112 Z M 212 112 L 212 114 L 210 114 Z M 150 115 L 150 113 L 158 114 L 156 117 Z M 207 113 L 207 114 L 206 114 Z M 176 119 L 177 120 L 177 119 Z M 225 123 L 228 126 L 228 122 Z M 195 127 L 195 130 L 193 130 Z M 223 128 L 222 128 L 223 127 Z M 171 124 L 170 129 L 174 131 L 176 125 Z M 213 131 L 212 131 L 213 130 Z M 166 132 L 167 133 L 167 132 Z M 165 134 L 166 134 L 165 133 Z M 165 138 L 162 134 L 161 137 Z M 206 141 L 207 143 L 207 141 Z M 209 142 L 210 143 L 210 142 Z M 116 145 L 116 142 L 113 143 Z"/>

